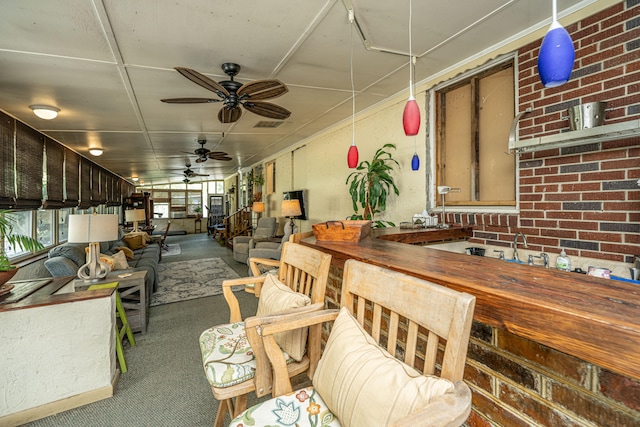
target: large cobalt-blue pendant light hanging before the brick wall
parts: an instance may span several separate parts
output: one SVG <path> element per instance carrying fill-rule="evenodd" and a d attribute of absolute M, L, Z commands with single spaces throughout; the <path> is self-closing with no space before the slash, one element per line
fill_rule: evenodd
<path fill-rule="evenodd" d="M 575 50 L 571 36 L 558 22 L 556 0 L 552 0 L 551 26 L 538 54 L 538 73 L 544 87 L 557 87 L 571 77 Z"/>

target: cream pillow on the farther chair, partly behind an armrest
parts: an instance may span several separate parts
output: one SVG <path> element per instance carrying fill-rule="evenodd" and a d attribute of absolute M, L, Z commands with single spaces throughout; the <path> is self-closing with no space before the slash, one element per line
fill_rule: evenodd
<path fill-rule="evenodd" d="M 311 304 L 311 298 L 292 291 L 276 276 L 267 274 L 260 291 L 256 316 L 265 316 L 309 304 Z M 308 328 L 300 328 L 275 334 L 274 338 L 282 350 L 299 362 L 305 353 L 308 331 Z"/>

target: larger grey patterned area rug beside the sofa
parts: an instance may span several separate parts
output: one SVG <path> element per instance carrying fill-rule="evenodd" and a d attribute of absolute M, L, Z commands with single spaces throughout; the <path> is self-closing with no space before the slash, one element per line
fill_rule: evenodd
<path fill-rule="evenodd" d="M 222 281 L 238 278 L 220 258 L 158 264 L 158 289 L 151 297 L 151 306 L 220 295 Z M 243 286 L 234 286 L 233 291 Z"/>

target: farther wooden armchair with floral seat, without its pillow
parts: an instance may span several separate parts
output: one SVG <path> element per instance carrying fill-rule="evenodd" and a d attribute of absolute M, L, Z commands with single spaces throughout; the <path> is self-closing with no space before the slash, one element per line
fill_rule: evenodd
<path fill-rule="evenodd" d="M 324 308 L 330 264 L 331 256 L 319 250 L 289 242 L 284 244 L 278 263 L 277 278 L 291 291 L 304 294 L 305 298 L 310 299 L 310 305 L 291 310 L 292 312 L 317 311 Z M 216 427 L 223 426 L 227 412 L 233 418 L 246 409 L 248 393 L 255 391 L 261 397 L 271 392 L 271 365 L 264 349 L 261 346 L 249 347 L 244 334 L 245 324 L 251 325 L 253 319 L 259 318 L 252 317 L 242 322 L 240 306 L 233 293 L 233 290 L 237 290 L 234 287 L 244 286 L 246 292 L 261 297 L 262 286 L 266 280 L 267 276 L 263 275 L 222 282 L 224 297 L 231 312 L 230 323 L 210 328 L 200 336 L 205 374 L 213 395 L 220 401 L 214 424 Z M 223 341 L 227 343 L 226 347 Z M 221 348 L 225 360 L 220 360 L 216 353 Z M 228 350 L 225 350 L 227 348 Z M 289 362 L 287 370 L 292 376 L 306 371 L 310 363 L 306 355 L 299 361 L 290 359 Z M 216 369 L 220 368 L 224 369 L 223 373 L 216 372 Z M 256 376 L 258 373 L 260 375 Z"/>

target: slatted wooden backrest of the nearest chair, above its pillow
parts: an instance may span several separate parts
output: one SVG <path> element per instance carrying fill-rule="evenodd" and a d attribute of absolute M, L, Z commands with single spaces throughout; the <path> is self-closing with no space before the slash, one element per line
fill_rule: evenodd
<path fill-rule="evenodd" d="M 356 300 L 357 306 L 354 306 Z M 430 309 L 425 310 L 420 302 L 428 303 Z M 427 373 L 435 372 L 438 342 L 442 338 L 445 346 L 441 376 L 454 382 L 462 379 L 475 306 L 473 296 L 416 277 L 348 260 L 345 263 L 341 306 L 355 309 L 356 313 L 352 313 L 361 325 L 372 322 L 371 335 L 378 342 L 386 338 L 389 353 L 404 353 L 402 359 L 413 367 L 417 359 L 423 359 L 423 371 Z M 365 320 L 367 306 L 373 308 Z M 385 308 L 384 313 L 381 306 Z M 453 321 L 449 315 L 443 315 L 450 312 L 456 313 Z M 403 321 L 396 322 L 395 316 Z M 383 317 L 386 318 L 384 322 Z M 385 322 L 387 329 L 382 330 L 381 325 Z M 400 330 L 391 332 L 396 325 Z M 420 335 L 420 327 L 428 331 L 428 335 Z M 405 335 L 402 348 L 396 337 Z M 425 339 L 427 342 L 423 343 Z M 424 349 L 425 354 L 419 354 L 419 349 Z"/>

